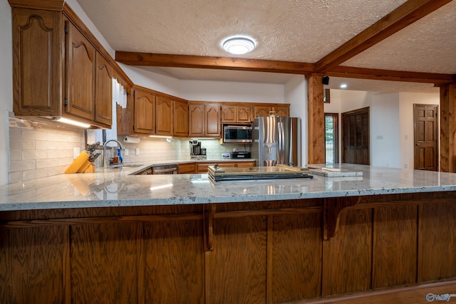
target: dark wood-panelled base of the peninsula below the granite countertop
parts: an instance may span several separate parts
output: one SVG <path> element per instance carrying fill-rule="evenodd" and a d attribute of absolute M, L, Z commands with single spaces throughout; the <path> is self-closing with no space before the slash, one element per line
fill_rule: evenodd
<path fill-rule="evenodd" d="M 455 281 L 455 199 L 2 211 L 0 302 L 287 303 Z"/>

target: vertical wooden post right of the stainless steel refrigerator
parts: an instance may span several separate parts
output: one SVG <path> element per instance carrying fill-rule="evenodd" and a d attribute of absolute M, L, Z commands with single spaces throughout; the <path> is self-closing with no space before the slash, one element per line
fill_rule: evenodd
<path fill-rule="evenodd" d="M 309 118 L 309 164 L 325 163 L 325 115 L 322 74 L 307 79 Z"/>

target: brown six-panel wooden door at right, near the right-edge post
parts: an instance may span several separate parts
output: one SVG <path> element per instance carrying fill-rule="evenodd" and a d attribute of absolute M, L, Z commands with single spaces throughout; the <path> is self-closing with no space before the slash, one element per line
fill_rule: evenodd
<path fill-rule="evenodd" d="M 437 171 L 437 105 L 413 105 L 415 169 Z"/>

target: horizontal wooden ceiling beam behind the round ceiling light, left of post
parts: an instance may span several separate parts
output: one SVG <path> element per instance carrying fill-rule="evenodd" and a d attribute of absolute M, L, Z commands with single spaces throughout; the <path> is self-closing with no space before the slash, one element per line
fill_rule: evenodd
<path fill-rule="evenodd" d="M 135 53 L 124 51 L 115 52 L 115 61 L 126 65 L 247 70 L 254 72 L 301 75 L 309 75 L 315 69 L 315 65 L 313 63 L 293 61 L 270 61 L 246 58 Z"/>

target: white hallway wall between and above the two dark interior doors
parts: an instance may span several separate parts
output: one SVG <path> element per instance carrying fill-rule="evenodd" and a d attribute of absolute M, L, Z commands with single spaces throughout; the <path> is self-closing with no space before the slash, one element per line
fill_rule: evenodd
<path fill-rule="evenodd" d="M 331 103 L 325 104 L 324 107 L 325 112 L 333 113 L 370 107 L 371 164 L 413 169 L 413 104 L 439 105 L 440 95 L 331 90 Z M 341 136 L 340 121 L 340 139 Z"/>

